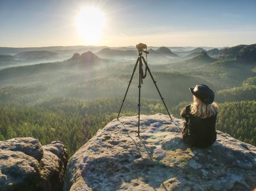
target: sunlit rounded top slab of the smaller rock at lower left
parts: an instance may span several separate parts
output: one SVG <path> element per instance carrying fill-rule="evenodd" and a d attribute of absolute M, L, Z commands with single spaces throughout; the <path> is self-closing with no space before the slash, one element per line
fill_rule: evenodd
<path fill-rule="evenodd" d="M 43 147 L 37 139 L 13 138 L 7 141 L 0 141 L 0 150 L 20 151 L 35 159 L 38 162 L 43 157 Z"/>

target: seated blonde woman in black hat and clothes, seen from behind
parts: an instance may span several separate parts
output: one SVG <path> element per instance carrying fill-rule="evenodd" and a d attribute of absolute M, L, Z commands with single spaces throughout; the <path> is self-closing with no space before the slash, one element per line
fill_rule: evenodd
<path fill-rule="evenodd" d="M 216 138 L 215 123 L 218 105 L 213 102 L 214 93 L 206 85 L 196 85 L 189 88 L 194 102 L 187 105 L 180 113 L 185 118 L 182 132 L 186 144 L 205 148 L 211 146 Z"/>

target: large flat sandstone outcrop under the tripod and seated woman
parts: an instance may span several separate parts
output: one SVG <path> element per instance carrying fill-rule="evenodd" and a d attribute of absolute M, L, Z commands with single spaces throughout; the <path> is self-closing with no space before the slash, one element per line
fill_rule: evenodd
<path fill-rule="evenodd" d="M 252 190 L 256 147 L 219 132 L 209 148 L 184 144 L 162 114 L 121 117 L 99 130 L 67 164 L 64 190 Z"/>

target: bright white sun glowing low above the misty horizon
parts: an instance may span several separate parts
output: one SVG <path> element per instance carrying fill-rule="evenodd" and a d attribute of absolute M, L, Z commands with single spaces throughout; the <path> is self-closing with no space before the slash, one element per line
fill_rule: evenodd
<path fill-rule="evenodd" d="M 105 17 L 98 8 L 86 7 L 76 18 L 78 33 L 88 43 L 96 43 L 105 27 Z"/>

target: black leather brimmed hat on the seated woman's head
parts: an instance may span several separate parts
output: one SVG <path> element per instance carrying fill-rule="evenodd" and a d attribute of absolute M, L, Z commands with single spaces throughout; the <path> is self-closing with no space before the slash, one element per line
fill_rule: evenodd
<path fill-rule="evenodd" d="M 208 86 L 199 84 L 196 87 L 189 88 L 191 93 L 205 104 L 212 104 L 214 100 L 214 92 Z"/>

